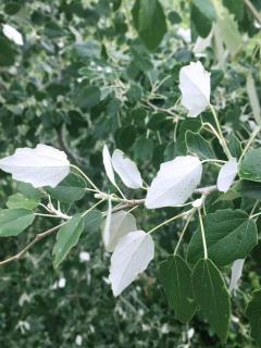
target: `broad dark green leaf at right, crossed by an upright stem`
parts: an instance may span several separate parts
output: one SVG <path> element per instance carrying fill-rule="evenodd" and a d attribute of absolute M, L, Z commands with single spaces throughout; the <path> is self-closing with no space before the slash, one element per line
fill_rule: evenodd
<path fill-rule="evenodd" d="M 256 223 L 243 210 L 219 210 L 203 217 L 209 258 L 217 265 L 245 259 L 258 244 Z M 188 246 L 188 261 L 196 263 L 203 256 L 198 229 Z"/>

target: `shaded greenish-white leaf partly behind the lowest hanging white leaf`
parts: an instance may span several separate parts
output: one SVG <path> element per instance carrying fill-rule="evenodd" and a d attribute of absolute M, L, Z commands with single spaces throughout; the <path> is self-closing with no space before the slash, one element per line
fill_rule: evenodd
<path fill-rule="evenodd" d="M 105 220 L 107 221 L 107 220 Z M 103 241 L 108 252 L 113 252 L 117 241 L 132 231 L 136 231 L 135 216 L 124 210 L 112 214 L 109 231 L 103 228 Z M 104 238 L 107 236 L 107 238 Z"/>

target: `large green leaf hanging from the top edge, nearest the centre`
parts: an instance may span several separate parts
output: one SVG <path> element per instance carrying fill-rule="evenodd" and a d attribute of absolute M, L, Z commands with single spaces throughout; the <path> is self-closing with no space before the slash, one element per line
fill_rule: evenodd
<path fill-rule="evenodd" d="M 158 0 L 136 0 L 133 21 L 144 45 L 153 51 L 166 33 L 165 14 Z"/>

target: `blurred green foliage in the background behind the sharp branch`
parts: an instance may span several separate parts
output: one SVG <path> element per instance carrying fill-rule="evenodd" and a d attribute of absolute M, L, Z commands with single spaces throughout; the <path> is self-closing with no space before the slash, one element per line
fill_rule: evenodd
<path fill-rule="evenodd" d="M 101 149 L 108 144 L 133 158 L 149 183 L 162 161 L 189 152 L 185 132 L 200 129 L 200 122 L 187 119 L 178 103 L 179 69 L 197 59 L 212 72 L 212 103 L 231 147 L 249 137 L 258 122 L 251 96 L 261 91 L 261 35 L 248 1 L 214 0 L 213 5 L 210 0 L 162 0 L 152 38 L 139 32 L 138 2 L 1 1 L 0 22 L 21 32 L 24 45 L 16 46 L 0 30 L 0 157 L 17 147 L 49 144 L 107 190 Z M 261 10 L 260 1 L 251 3 Z M 197 50 L 197 38 L 210 33 L 212 41 Z M 208 112 L 202 119 L 211 122 Z M 201 135 L 222 159 L 213 135 Z M 0 175 L 4 208 L 8 196 L 21 188 L 9 175 Z M 204 176 L 214 183 L 216 172 L 211 167 Z M 74 209 L 92 202 L 88 195 Z M 238 208 L 251 201 L 219 204 Z M 140 209 L 136 216 L 149 228 L 171 213 Z M 178 224 L 156 236 L 158 260 L 173 251 Z M 18 238 L 1 239 L 1 259 L 50 226 L 38 219 Z M 194 224 L 189 229 L 192 233 Z M 188 325 L 174 319 L 157 278 L 158 260 L 115 299 L 99 233 L 86 231 L 58 271 L 52 268 L 53 241 L 40 243 L 20 262 L 0 269 L 1 348 L 221 347 L 200 315 Z M 254 347 L 244 310 L 250 293 L 260 287 L 260 270 L 258 246 L 234 296 L 226 347 Z"/>

